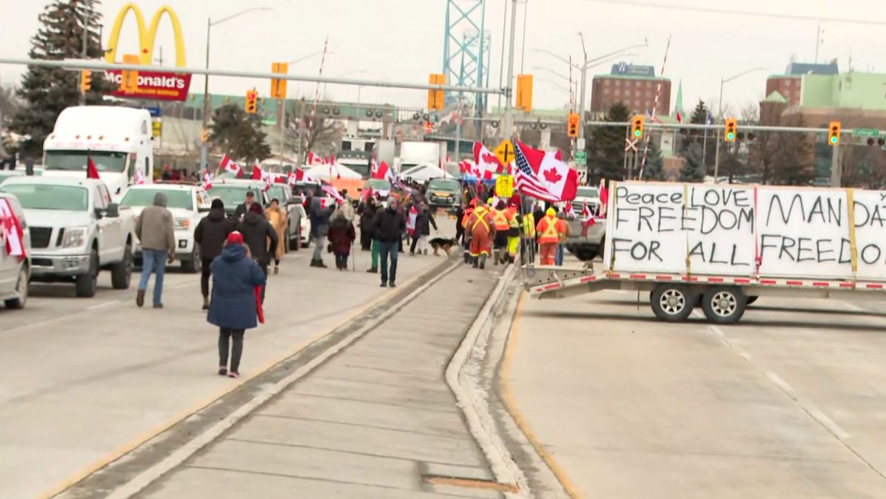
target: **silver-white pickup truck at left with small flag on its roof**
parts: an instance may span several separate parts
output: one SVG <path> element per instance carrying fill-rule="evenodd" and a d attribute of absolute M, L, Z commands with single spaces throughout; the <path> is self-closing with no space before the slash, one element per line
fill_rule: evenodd
<path fill-rule="evenodd" d="M 120 210 L 101 180 L 69 176 L 11 177 L 0 186 L 19 199 L 31 238 L 31 280 L 72 282 L 78 297 L 95 296 L 98 272 L 128 289 L 135 214 Z"/>

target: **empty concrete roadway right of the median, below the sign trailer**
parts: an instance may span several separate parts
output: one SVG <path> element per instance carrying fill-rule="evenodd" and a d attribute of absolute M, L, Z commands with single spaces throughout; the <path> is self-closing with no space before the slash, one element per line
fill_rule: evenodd
<path fill-rule="evenodd" d="M 573 497 L 886 497 L 882 305 L 760 298 L 717 327 L 637 301 L 526 299 L 512 331 L 507 386 Z"/>

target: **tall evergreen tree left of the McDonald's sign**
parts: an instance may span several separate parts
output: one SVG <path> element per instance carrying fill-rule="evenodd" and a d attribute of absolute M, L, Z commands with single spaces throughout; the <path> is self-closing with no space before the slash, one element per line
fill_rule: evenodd
<path fill-rule="evenodd" d="M 98 29 L 102 14 L 99 0 L 52 0 L 40 14 L 40 28 L 31 39 L 28 55 L 36 59 L 60 60 L 82 58 L 83 24 L 89 19 L 86 58 L 102 58 Z M 80 99 L 78 71 L 56 67 L 30 66 L 17 90 L 24 101 L 12 120 L 12 130 L 30 136 L 21 144 L 19 152 L 39 156 L 43 140 L 52 131 L 58 113 Z M 86 104 L 100 104 L 110 84 L 100 74 L 93 74 L 93 90 L 86 94 Z"/>

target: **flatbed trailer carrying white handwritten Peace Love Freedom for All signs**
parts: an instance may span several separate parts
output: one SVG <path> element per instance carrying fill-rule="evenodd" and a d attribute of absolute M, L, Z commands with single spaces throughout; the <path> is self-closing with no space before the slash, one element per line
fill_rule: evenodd
<path fill-rule="evenodd" d="M 886 191 L 613 183 L 607 214 L 602 269 L 526 266 L 530 296 L 650 292 L 720 324 L 758 297 L 886 298 Z"/>

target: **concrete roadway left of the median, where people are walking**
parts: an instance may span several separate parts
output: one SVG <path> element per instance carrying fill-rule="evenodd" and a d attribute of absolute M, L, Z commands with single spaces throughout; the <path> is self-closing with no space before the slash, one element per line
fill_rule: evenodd
<path fill-rule="evenodd" d="M 198 275 L 167 274 L 162 310 L 150 298 L 136 308 L 138 274 L 125 292 L 111 289 L 105 274 L 93 299 L 74 298 L 70 285 L 36 285 L 25 310 L 0 308 L 0 497 L 27 499 L 69 484 L 387 292 L 365 272 L 369 253 L 359 246 L 356 272 L 312 269 L 310 257 L 306 249 L 289 253 L 270 276 L 267 324 L 246 332 L 240 380 L 215 374 L 218 333 L 200 310 Z M 333 265 L 331 254 L 324 259 Z M 398 281 L 441 260 L 401 255 Z"/>

